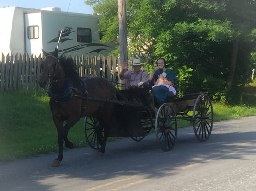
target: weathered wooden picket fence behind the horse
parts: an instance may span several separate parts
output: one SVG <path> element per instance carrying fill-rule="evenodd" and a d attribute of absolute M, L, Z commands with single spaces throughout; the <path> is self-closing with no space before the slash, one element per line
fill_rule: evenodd
<path fill-rule="evenodd" d="M 74 56 L 81 77 L 99 76 L 118 82 L 118 59 L 114 56 Z M 20 89 L 38 89 L 40 64 L 42 57 L 34 54 L 0 53 L 0 91 L 17 91 Z"/>

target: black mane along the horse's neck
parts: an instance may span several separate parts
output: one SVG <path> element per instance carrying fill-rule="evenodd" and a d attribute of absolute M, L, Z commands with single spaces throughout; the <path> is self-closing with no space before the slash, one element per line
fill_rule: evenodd
<path fill-rule="evenodd" d="M 66 78 L 71 78 L 76 82 L 80 82 L 81 78 L 78 74 L 77 67 L 72 58 L 66 58 L 65 56 L 59 57 L 62 67 L 65 72 Z"/>

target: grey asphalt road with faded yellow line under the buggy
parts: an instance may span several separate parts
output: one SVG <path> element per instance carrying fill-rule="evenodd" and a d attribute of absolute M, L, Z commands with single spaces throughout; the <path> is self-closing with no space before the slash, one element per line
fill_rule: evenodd
<path fill-rule="evenodd" d="M 155 135 L 141 142 L 107 144 L 103 157 L 90 147 L 0 164 L 0 191 L 255 191 L 256 116 L 214 123 L 207 142 L 193 128 L 178 130 L 163 152 Z"/>

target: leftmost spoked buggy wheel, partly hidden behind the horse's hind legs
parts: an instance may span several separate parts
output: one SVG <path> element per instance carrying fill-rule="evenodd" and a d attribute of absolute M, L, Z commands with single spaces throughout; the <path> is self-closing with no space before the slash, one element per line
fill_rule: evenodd
<path fill-rule="evenodd" d="M 84 117 L 84 136 L 87 144 L 95 150 L 100 149 L 100 141 L 98 139 L 99 120 L 93 117 Z M 102 132 L 102 138 L 104 133 Z"/>

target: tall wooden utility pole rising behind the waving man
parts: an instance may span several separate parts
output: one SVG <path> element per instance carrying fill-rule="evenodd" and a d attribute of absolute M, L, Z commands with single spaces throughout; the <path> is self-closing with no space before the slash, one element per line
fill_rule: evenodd
<path fill-rule="evenodd" d="M 118 0 L 120 65 L 128 61 L 125 0 Z"/>

